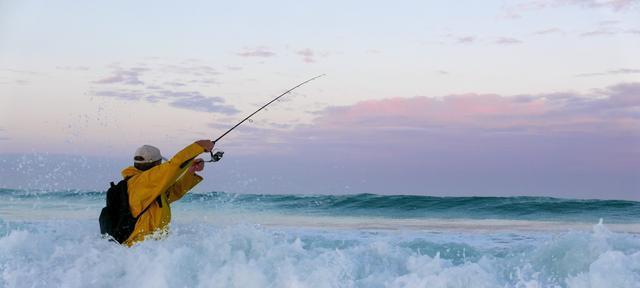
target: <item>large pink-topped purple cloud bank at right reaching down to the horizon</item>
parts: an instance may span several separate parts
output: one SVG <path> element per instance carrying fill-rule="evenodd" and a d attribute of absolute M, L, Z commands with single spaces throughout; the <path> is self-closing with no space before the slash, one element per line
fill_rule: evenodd
<path fill-rule="evenodd" d="M 283 129 L 256 121 L 226 141 L 251 158 L 272 155 L 266 169 L 283 163 L 318 193 L 344 179 L 359 193 L 638 198 L 640 83 L 397 97 L 314 115 Z"/>

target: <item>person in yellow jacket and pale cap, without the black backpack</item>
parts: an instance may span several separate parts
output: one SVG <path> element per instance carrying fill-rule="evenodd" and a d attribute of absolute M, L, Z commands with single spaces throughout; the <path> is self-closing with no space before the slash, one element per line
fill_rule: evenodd
<path fill-rule="evenodd" d="M 134 166 L 122 170 L 122 176 L 128 179 L 129 207 L 138 220 L 123 244 L 131 246 L 150 234 L 167 232 L 171 221 L 170 204 L 202 181 L 196 172 L 204 169 L 204 161 L 195 158 L 211 151 L 213 145 L 210 140 L 196 141 L 164 163 L 161 163 L 163 157 L 156 147 L 144 145 L 136 150 Z"/>

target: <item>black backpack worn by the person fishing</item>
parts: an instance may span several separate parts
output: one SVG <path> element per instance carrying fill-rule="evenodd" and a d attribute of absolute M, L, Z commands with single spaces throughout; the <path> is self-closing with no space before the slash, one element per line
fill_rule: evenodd
<path fill-rule="evenodd" d="M 107 190 L 107 207 L 102 208 L 100 212 L 100 233 L 113 237 L 113 240 L 121 244 L 131 236 L 140 215 L 151 207 L 151 205 L 147 206 L 138 217 L 133 217 L 127 191 L 129 178 L 125 178 L 118 184 L 111 182 L 111 187 Z"/>

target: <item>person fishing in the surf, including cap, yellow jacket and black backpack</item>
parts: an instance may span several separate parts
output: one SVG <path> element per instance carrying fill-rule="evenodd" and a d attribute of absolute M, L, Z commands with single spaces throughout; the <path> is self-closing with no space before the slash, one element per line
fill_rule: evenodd
<path fill-rule="evenodd" d="M 213 145 L 210 140 L 196 141 L 164 163 L 158 148 L 138 148 L 133 166 L 122 170 L 124 180 L 118 185 L 112 183 L 107 192 L 107 207 L 100 215 L 101 232 L 127 246 L 152 234 L 166 235 L 171 221 L 170 204 L 202 181 L 196 172 L 204 169 L 204 161 L 196 157 L 210 152 Z"/>

